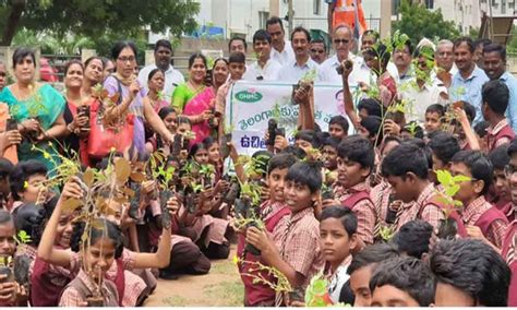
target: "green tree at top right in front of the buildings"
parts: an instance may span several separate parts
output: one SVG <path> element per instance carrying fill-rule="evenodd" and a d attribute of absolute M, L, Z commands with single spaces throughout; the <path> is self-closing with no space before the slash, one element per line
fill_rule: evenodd
<path fill-rule="evenodd" d="M 430 11 L 418 1 L 402 0 L 399 8 L 401 19 L 394 23 L 394 29 L 408 34 L 417 44 L 423 37 L 431 40 L 437 38 L 453 39 L 459 36 L 459 31 L 453 22 L 444 21 L 442 11 Z"/>

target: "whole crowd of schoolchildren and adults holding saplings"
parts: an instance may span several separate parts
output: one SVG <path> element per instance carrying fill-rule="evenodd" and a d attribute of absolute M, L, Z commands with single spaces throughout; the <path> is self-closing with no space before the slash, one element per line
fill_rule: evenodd
<path fill-rule="evenodd" d="M 13 84 L 0 64 L 0 305 L 142 306 L 157 278 L 206 274 L 237 245 L 243 306 L 312 306 L 314 278 L 328 305 L 517 306 L 505 47 L 338 24 L 328 57 L 305 28 L 288 35 L 270 17 L 253 62 L 232 38 L 227 58 L 192 55 L 188 76 L 170 41 L 140 70 L 119 41 L 67 63 L 63 94 L 17 48 Z M 225 112 L 241 80 L 299 85 L 293 144 L 267 130 L 240 156 Z M 324 126 L 322 83 L 342 86 L 346 111 Z"/>

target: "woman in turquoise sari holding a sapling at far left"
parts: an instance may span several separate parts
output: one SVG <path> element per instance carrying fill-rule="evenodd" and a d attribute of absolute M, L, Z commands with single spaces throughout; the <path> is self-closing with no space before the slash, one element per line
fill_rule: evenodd
<path fill-rule="evenodd" d="M 24 136 L 17 147 L 17 157 L 20 162 L 40 160 L 52 171 L 55 162 L 59 160 L 52 141 L 67 130 L 64 98 L 52 86 L 35 81 L 36 58 L 31 49 L 17 48 L 12 59 L 16 82 L 2 90 L 0 102 L 8 104 L 11 118 Z M 33 145 L 46 153 L 34 151 Z"/>

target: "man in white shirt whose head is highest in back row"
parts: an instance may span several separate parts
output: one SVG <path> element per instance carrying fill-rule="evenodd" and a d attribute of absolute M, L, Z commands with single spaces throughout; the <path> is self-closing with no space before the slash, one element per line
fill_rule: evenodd
<path fill-rule="evenodd" d="M 286 41 L 284 32 L 284 24 L 277 16 L 273 16 L 266 22 L 266 31 L 272 38 L 270 58 L 280 64 L 287 64 L 294 60 L 294 51 L 291 43 Z"/>

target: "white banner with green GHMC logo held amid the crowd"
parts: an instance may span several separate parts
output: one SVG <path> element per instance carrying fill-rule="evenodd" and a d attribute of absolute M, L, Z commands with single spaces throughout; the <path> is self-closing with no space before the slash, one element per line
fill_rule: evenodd
<path fill-rule="evenodd" d="M 266 150 L 264 134 L 267 121 L 275 118 L 286 138 L 293 142 L 299 107 L 291 103 L 292 84 L 239 81 L 230 88 L 226 104 L 226 128 L 239 154 L 253 155 Z M 327 131 L 332 117 L 346 117 L 342 87 L 314 85 L 314 117 L 322 131 Z M 348 119 L 348 118 L 347 118 Z M 350 121 L 349 121 L 350 122 Z M 350 123 L 350 130 L 353 126 Z"/>

